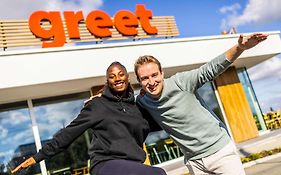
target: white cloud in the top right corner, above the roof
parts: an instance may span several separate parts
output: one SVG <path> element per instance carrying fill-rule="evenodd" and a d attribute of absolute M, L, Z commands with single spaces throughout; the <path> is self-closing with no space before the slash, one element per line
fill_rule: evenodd
<path fill-rule="evenodd" d="M 220 9 L 223 14 L 230 12 L 230 15 L 222 20 L 221 28 L 223 30 L 248 23 L 265 24 L 281 20 L 280 0 L 249 0 L 242 14 L 238 14 L 238 9 L 237 3 Z"/>

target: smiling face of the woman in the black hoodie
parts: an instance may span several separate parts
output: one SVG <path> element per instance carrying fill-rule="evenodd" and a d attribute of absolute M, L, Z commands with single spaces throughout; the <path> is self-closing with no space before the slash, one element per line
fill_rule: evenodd
<path fill-rule="evenodd" d="M 124 92 L 128 87 L 129 75 L 120 64 L 111 65 L 106 72 L 108 86 L 117 93 Z"/>

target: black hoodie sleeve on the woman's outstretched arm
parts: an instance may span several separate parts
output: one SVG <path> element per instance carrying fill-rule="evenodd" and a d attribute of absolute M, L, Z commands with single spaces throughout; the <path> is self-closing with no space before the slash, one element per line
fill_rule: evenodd
<path fill-rule="evenodd" d="M 88 128 L 95 124 L 93 117 L 93 102 L 90 102 L 81 110 L 80 114 L 66 127 L 57 132 L 53 138 L 43 145 L 42 149 L 33 156 L 38 163 L 46 158 L 51 158 L 67 147 Z"/>

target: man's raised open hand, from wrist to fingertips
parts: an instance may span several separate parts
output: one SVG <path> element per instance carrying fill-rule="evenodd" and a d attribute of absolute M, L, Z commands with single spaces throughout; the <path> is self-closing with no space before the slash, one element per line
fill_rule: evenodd
<path fill-rule="evenodd" d="M 241 34 L 238 39 L 238 47 L 241 50 L 250 49 L 250 48 L 256 46 L 258 43 L 266 40 L 267 36 L 268 36 L 268 34 L 254 33 L 250 36 L 244 37 Z"/>

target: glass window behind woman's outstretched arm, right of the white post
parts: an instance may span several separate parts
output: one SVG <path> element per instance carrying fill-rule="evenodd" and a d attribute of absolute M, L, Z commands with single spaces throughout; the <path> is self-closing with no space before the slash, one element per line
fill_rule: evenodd
<path fill-rule="evenodd" d="M 41 143 L 44 145 L 60 129 L 66 127 L 80 112 L 90 93 L 79 93 L 60 97 L 33 100 L 36 123 Z M 67 174 L 75 169 L 87 167 L 88 133 L 77 138 L 67 150 L 46 160 L 50 174 Z"/>

